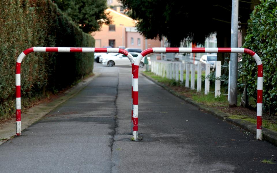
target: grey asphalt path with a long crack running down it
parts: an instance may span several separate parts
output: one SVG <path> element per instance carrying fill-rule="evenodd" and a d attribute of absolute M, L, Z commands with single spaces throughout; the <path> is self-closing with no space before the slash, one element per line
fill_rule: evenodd
<path fill-rule="evenodd" d="M 102 75 L 0 145 L 0 172 L 277 172 L 277 148 L 139 76 L 139 135 L 131 141 L 130 67 Z M 274 156 L 272 156 L 274 155 Z"/>

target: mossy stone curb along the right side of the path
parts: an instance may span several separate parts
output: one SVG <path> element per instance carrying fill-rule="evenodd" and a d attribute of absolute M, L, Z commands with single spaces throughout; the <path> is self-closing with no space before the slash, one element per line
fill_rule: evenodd
<path fill-rule="evenodd" d="M 171 94 L 175 95 L 176 97 L 179 97 L 180 99 L 183 99 L 184 101 L 188 102 L 189 104 L 192 104 L 193 106 L 196 106 L 197 108 L 204 110 L 204 111 L 208 112 L 209 114 L 212 114 L 222 120 L 225 120 L 228 123 L 239 126 L 242 129 L 249 131 L 250 133 L 256 134 L 256 130 L 257 130 L 256 124 L 252 124 L 248 121 L 244 121 L 244 120 L 240 120 L 240 119 L 229 119 L 228 118 L 230 116 L 229 114 L 222 112 L 220 110 L 208 107 L 202 103 L 197 103 L 196 101 L 192 100 L 189 97 L 180 95 L 178 92 L 174 91 L 173 89 L 166 86 L 165 84 L 162 84 L 162 83 L 150 78 L 149 76 L 146 76 L 143 73 L 140 73 L 140 74 L 142 74 L 143 76 L 145 76 L 147 79 L 151 80 L 152 82 L 156 83 L 157 85 L 161 86 L 166 91 L 170 92 Z M 277 146 L 277 132 L 263 127 L 262 138 L 263 138 L 263 140 L 268 141 L 268 142 L 272 143 L 273 145 Z"/>

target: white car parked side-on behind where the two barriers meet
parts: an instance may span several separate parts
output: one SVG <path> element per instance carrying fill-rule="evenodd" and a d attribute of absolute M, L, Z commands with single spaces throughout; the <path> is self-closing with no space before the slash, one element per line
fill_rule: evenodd
<path fill-rule="evenodd" d="M 139 56 L 139 53 L 137 52 L 129 52 L 129 53 L 132 54 L 135 59 L 136 57 Z M 143 57 L 143 59 L 139 63 L 139 68 L 143 68 L 144 58 L 145 57 Z M 148 64 L 151 65 L 151 61 L 149 61 L 150 57 L 147 57 L 147 59 L 148 59 Z M 103 65 L 107 65 L 108 67 L 112 67 L 114 65 L 131 65 L 128 57 L 120 53 L 115 53 L 113 54 L 113 56 L 108 56 L 108 54 L 105 54 L 104 56 L 102 55 L 99 61 L 101 61 Z"/>

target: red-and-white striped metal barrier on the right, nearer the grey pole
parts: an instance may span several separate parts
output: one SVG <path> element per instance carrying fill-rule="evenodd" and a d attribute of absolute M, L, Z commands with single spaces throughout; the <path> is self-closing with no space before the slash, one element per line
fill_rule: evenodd
<path fill-rule="evenodd" d="M 263 64 L 260 57 L 252 50 L 246 48 L 149 48 L 143 50 L 136 58 L 133 74 L 133 138 L 138 139 L 138 106 L 139 106 L 139 62 L 150 53 L 246 53 L 251 55 L 258 66 L 257 86 L 257 140 L 262 139 L 262 113 L 263 113 Z"/>

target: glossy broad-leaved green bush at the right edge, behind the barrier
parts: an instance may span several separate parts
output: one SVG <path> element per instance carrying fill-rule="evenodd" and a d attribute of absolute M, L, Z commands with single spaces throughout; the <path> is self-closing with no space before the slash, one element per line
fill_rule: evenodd
<path fill-rule="evenodd" d="M 255 51 L 263 62 L 263 109 L 277 113 L 277 2 L 267 0 L 257 5 L 248 21 L 244 47 Z M 248 94 L 257 98 L 257 65 L 248 55 L 243 60 Z"/>

